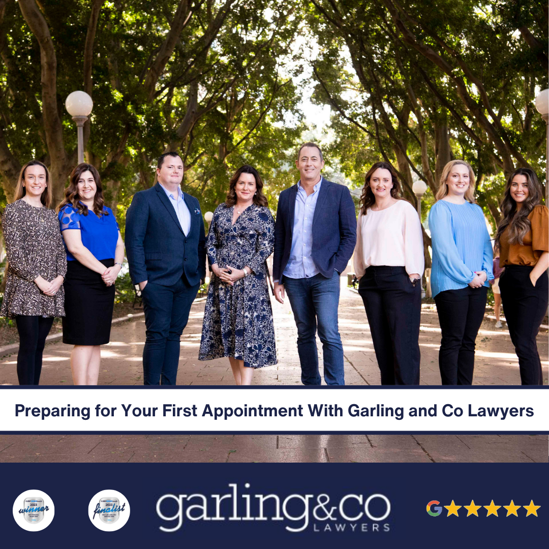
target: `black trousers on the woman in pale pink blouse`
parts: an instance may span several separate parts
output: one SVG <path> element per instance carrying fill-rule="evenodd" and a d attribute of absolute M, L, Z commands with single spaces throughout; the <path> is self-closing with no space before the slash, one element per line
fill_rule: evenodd
<path fill-rule="evenodd" d="M 382 385 L 419 385 L 421 285 L 404 267 L 372 266 L 358 284 Z"/>

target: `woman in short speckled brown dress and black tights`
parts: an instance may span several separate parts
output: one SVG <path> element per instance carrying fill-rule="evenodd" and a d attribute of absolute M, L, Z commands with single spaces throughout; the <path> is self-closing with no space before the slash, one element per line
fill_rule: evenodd
<path fill-rule="evenodd" d="M 46 337 L 54 317 L 65 315 L 67 270 L 47 167 L 38 160 L 25 164 L 13 198 L 2 216 L 8 271 L 0 316 L 14 318 L 19 332 L 19 385 L 38 385 Z"/>

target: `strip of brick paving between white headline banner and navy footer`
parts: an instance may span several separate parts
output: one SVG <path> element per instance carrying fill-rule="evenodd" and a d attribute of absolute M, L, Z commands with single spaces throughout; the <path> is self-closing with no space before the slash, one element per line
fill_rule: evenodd
<path fill-rule="evenodd" d="M 0 463 L 545 462 L 546 435 L 0 435 Z"/>

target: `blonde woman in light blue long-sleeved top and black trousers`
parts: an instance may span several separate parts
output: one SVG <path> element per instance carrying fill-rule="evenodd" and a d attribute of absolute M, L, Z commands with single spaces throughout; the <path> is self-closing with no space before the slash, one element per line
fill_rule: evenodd
<path fill-rule="evenodd" d="M 475 174 L 463 160 L 442 170 L 436 203 L 429 212 L 433 244 L 431 288 L 442 340 L 442 385 L 473 383 L 475 339 L 484 318 L 492 245 L 484 214 L 474 203 Z"/>

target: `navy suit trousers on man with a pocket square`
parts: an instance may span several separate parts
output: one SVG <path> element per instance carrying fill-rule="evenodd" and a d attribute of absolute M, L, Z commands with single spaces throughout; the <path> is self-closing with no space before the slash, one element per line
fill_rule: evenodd
<path fill-rule="evenodd" d="M 183 279 L 171 286 L 148 282 L 142 290 L 146 338 L 143 348 L 143 384 L 175 385 L 180 338 L 199 284 Z"/>

